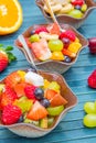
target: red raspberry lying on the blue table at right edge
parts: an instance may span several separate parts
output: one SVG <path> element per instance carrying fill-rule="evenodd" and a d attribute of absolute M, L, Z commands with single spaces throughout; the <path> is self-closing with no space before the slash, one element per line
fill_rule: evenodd
<path fill-rule="evenodd" d="M 96 69 L 90 74 L 87 79 L 88 86 L 92 88 L 96 88 Z"/>

